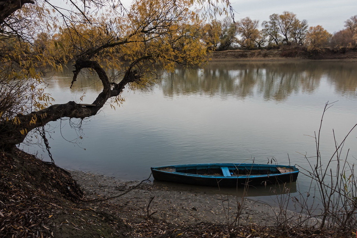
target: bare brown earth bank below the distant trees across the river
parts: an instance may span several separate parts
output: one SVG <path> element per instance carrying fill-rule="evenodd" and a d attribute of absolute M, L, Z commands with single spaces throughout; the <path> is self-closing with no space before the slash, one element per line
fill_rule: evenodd
<path fill-rule="evenodd" d="M 225 50 L 214 51 L 212 61 L 286 61 L 286 60 L 357 60 L 357 50 L 348 49 L 335 52 L 330 49 L 319 54 L 311 54 L 303 47 L 293 47 L 275 50 Z"/>

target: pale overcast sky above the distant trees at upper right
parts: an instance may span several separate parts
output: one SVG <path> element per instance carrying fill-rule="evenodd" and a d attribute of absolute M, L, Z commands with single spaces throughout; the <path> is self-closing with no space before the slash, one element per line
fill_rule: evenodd
<path fill-rule="evenodd" d="M 342 30 L 345 21 L 357 15 L 357 0 L 232 0 L 235 20 L 249 16 L 260 24 L 273 13 L 292 11 L 309 26 L 321 25 L 328 32 Z"/>

